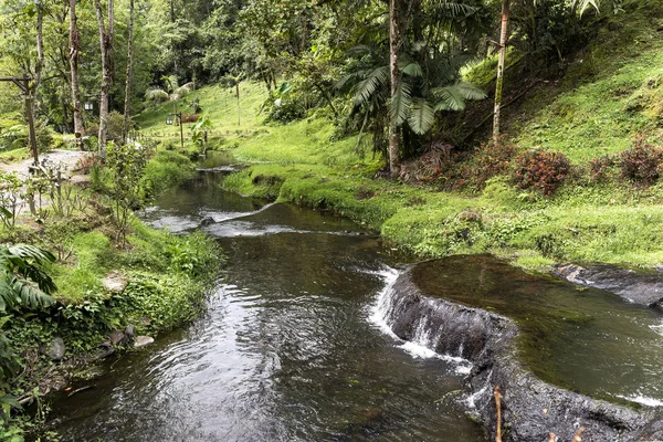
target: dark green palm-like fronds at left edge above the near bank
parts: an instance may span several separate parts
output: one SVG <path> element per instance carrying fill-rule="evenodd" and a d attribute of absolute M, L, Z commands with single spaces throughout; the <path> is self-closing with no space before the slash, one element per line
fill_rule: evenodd
<path fill-rule="evenodd" d="M 55 256 L 28 244 L 0 246 L 0 312 L 8 307 L 46 307 L 57 287 L 44 266 Z"/>

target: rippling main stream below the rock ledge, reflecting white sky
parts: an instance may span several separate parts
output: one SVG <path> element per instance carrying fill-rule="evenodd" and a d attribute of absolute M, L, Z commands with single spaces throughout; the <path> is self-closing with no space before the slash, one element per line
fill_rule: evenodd
<path fill-rule="evenodd" d="M 393 277 L 377 239 L 225 193 L 223 171 L 201 172 L 145 213 L 176 232 L 213 219 L 201 229 L 229 264 L 207 314 L 56 402 L 65 440 L 482 440 L 457 404 L 457 366 L 413 358 L 369 320 Z"/>

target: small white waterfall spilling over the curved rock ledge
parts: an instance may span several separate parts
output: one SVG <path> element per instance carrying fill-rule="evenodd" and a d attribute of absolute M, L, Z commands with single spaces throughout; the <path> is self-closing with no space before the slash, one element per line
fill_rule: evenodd
<path fill-rule="evenodd" d="M 444 305 L 440 305 L 436 299 L 403 295 L 400 287 L 397 286 L 399 273 L 393 269 L 386 269 L 380 275 L 385 278 L 385 288 L 379 293 L 371 307 L 370 322 L 385 334 L 401 341 L 399 347 L 414 358 L 440 358 L 451 362 L 457 373 L 469 375 L 472 370 L 472 362 L 464 355 L 464 337 L 456 348 L 441 346 L 441 343 L 448 337 L 445 333 L 448 327 L 444 327 L 439 319 L 440 311 L 444 308 Z M 421 304 L 421 315 L 412 318 L 407 327 L 408 333 L 403 336 L 398 332 L 402 328 L 403 314 L 411 316 L 408 313 L 412 304 L 417 302 Z"/>

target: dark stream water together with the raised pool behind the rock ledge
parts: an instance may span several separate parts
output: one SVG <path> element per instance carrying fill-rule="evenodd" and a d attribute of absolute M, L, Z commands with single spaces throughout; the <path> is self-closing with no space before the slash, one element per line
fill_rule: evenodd
<path fill-rule="evenodd" d="M 398 274 L 377 238 L 347 220 L 224 192 L 232 166 L 203 167 L 144 217 L 173 232 L 201 229 L 225 251 L 207 314 L 108 361 L 94 389 L 56 399 L 53 424 L 65 440 L 484 440 L 459 394 L 470 370 L 462 349 L 434 357 L 400 343 L 376 312 Z M 425 263 L 414 277 L 425 294 L 514 317 L 525 361 L 545 380 L 663 401 L 659 313 L 486 256 Z"/>

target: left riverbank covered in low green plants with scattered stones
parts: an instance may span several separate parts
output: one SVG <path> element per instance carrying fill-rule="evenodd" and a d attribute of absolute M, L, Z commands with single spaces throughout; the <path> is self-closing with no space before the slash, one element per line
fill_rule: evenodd
<path fill-rule="evenodd" d="M 56 261 L 45 271 L 57 286 L 48 307 L 3 312 L 7 370 L 0 397 L 13 406 L 15 398 L 31 411 L 6 410 L 1 440 L 41 433 L 44 396 L 92 376 L 91 367 L 102 359 L 139 348 L 198 317 L 223 261 L 207 235 L 173 235 L 133 214 L 126 242 L 120 242 L 110 201 L 95 190 L 103 186 L 104 172 L 88 171 L 85 186 L 63 183 L 57 213 L 44 206 L 36 220 L 25 214 L 0 232 L 3 242 L 52 252 Z M 193 173 L 186 157 L 159 152 L 148 162 L 141 186 L 156 194 Z"/>

